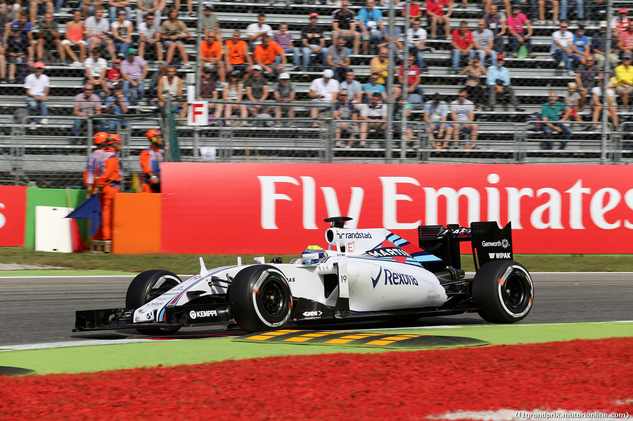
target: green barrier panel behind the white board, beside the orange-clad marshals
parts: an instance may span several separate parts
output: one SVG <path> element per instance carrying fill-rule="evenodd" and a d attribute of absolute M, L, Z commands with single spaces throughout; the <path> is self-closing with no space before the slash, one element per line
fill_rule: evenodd
<path fill-rule="evenodd" d="M 70 207 L 77 207 L 85 200 L 85 190 L 70 190 Z M 65 188 L 27 188 L 27 223 L 24 247 L 35 248 L 35 206 L 68 207 Z M 88 221 L 77 219 L 82 238 L 86 238 Z"/>

